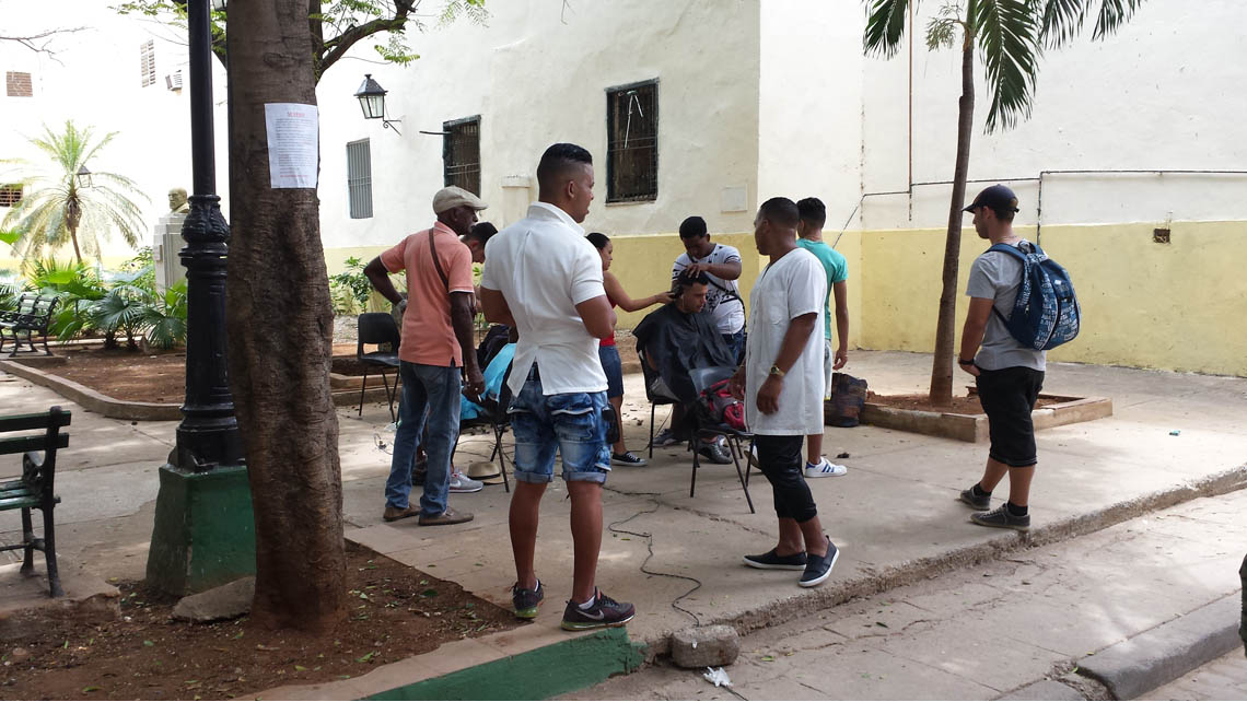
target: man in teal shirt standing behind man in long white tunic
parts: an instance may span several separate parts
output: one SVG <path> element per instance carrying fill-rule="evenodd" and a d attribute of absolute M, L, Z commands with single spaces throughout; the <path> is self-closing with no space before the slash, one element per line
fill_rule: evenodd
<path fill-rule="evenodd" d="M 813 253 L 827 271 L 827 299 L 823 301 L 823 397 L 832 392 L 832 372 L 844 368 L 849 354 L 849 303 L 848 281 L 849 267 L 844 256 L 823 241 L 823 224 L 827 223 L 827 206 L 817 197 L 807 197 L 797 202 L 801 212 L 801 224 L 797 227 L 799 238 L 797 246 Z M 831 299 L 835 299 L 835 334 L 839 345 L 832 354 L 832 312 L 828 305 Z M 837 465 L 823 458 L 823 435 L 811 434 L 806 438 L 806 478 L 831 478 L 844 475 L 848 469 Z"/>

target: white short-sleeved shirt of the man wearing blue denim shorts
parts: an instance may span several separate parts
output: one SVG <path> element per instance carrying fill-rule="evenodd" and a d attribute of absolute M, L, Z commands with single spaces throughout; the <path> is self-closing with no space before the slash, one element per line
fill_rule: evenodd
<path fill-rule="evenodd" d="M 524 219 L 490 237 L 480 286 L 499 291 L 511 308 L 520 340 L 508 385 L 520 394 L 535 362 L 541 392 L 606 389 L 597 339 L 576 305 L 605 296 L 602 258 L 585 229 L 562 209 L 534 202 Z"/>

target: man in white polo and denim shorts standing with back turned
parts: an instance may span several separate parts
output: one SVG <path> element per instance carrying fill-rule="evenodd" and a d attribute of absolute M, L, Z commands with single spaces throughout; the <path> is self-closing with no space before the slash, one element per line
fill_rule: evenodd
<path fill-rule="evenodd" d="M 537 515 L 554 480 L 555 451 L 571 496 L 571 600 L 562 628 L 622 626 L 635 615 L 594 582 L 602 545 L 602 484 L 611 469 L 606 441 L 606 374 L 597 340 L 615 333 L 602 288 L 602 259 L 580 222 L 594 200 L 594 160 L 572 143 L 547 148 L 537 165 L 540 193 L 524 219 L 485 246 L 481 308 L 490 322 L 519 332 L 508 382 L 514 393 L 515 493 L 510 531 L 515 613 L 537 615 L 545 596 L 534 569 Z"/>

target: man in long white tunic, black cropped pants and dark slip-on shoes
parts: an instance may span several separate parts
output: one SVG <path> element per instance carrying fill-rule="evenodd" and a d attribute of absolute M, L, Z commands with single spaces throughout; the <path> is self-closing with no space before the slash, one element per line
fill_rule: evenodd
<path fill-rule="evenodd" d="M 732 392 L 744 400 L 758 465 L 774 494 L 779 540 L 744 565 L 799 570 L 802 587 L 822 585 L 839 551 L 823 534 L 802 473 L 807 434 L 823 430 L 823 303 L 827 273 L 797 246 L 797 203 L 773 197 L 753 221 L 758 253 L 771 263 L 749 293 L 749 339 Z"/>

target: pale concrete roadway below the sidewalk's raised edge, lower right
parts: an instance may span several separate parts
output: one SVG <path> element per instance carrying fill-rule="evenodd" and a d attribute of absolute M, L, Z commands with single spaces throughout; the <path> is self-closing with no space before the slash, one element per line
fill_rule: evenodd
<path fill-rule="evenodd" d="M 1102 700 L 1075 667 L 1146 640 L 1136 660 L 1167 656 L 1188 670 L 1198 647 L 1166 630 L 1200 620 L 1210 602 L 1225 616 L 1202 636 L 1237 626 L 1245 531 L 1247 490 L 1201 498 L 747 635 L 725 668 L 731 691 L 705 671 L 660 665 L 565 698 Z M 1145 698 L 1247 698 L 1237 632 L 1231 645 L 1211 670 Z"/>

